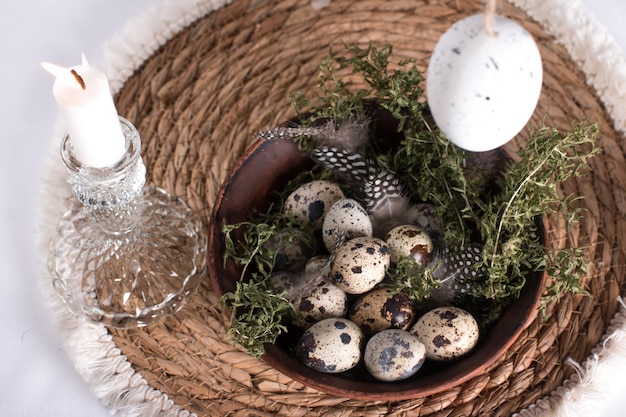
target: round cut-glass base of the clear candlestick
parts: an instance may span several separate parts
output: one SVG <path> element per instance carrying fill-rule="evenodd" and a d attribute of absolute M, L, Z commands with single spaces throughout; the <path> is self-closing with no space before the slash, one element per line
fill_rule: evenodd
<path fill-rule="evenodd" d="M 144 326 L 179 310 L 206 266 L 206 234 L 184 201 L 145 187 L 133 224 L 111 231 L 76 203 L 60 220 L 49 267 L 77 315 L 115 327 Z M 119 213 L 118 213 L 119 214 Z"/>

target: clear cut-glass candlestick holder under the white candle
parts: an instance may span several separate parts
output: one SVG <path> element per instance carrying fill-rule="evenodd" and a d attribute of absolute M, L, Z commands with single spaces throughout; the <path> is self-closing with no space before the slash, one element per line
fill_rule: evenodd
<path fill-rule="evenodd" d="M 71 138 L 61 144 L 76 197 L 51 242 L 54 288 L 69 309 L 128 328 L 175 313 L 197 289 L 207 237 L 180 198 L 145 186 L 137 130 L 120 118 L 126 153 L 106 168 L 82 166 Z"/>

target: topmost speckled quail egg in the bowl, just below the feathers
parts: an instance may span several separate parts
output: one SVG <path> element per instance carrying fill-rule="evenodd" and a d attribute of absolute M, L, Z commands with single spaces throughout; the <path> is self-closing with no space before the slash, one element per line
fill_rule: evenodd
<path fill-rule="evenodd" d="M 298 224 L 319 230 L 326 213 L 340 198 L 344 198 L 344 193 L 339 185 L 325 180 L 311 181 L 302 184 L 287 197 L 283 211 Z"/>

